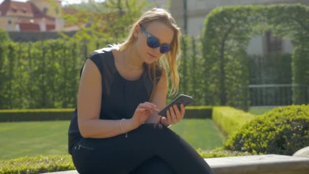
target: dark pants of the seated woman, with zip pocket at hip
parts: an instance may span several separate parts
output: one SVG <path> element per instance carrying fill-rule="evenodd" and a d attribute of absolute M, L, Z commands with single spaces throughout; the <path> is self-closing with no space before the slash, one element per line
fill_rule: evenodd
<path fill-rule="evenodd" d="M 73 163 L 83 173 L 213 173 L 206 161 L 175 132 L 144 124 L 110 138 L 81 138 Z"/>

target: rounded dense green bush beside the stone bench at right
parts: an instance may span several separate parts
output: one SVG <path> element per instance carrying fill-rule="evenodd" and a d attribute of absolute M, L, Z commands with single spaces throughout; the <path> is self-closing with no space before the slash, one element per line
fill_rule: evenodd
<path fill-rule="evenodd" d="M 309 146 L 309 105 L 279 107 L 256 117 L 225 142 L 228 150 L 292 155 Z"/>

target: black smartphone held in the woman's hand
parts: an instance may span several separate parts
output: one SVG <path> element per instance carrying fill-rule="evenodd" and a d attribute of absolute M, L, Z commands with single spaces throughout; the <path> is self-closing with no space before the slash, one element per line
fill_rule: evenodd
<path fill-rule="evenodd" d="M 158 115 L 163 117 L 167 117 L 166 111 L 173 105 L 177 105 L 178 109 L 180 110 L 180 104 L 183 104 L 184 107 L 189 105 L 191 102 L 194 102 L 195 99 L 191 96 L 187 96 L 184 94 L 180 94 L 176 99 L 174 99 L 170 104 L 165 106 L 161 111 L 158 112 Z"/>

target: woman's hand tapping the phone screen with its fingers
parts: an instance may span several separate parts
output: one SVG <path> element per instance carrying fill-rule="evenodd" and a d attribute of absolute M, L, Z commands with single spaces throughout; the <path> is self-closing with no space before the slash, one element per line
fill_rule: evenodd
<path fill-rule="evenodd" d="M 153 111 L 159 111 L 155 104 L 149 102 L 140 103 L 135 109 L 134 115 L 131 119 L 133 126 L 138 128 L 140 125 L 145 123 Z"/>

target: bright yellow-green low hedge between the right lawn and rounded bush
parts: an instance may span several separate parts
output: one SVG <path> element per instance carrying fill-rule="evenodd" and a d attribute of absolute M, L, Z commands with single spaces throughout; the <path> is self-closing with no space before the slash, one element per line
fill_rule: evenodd
<path fill-rule="evenodd" d="M 230 106 L 214 106 L 212 108 L 213 121 L 228 135 L 231 135 L 255 117 L 257 115 Z"/>

